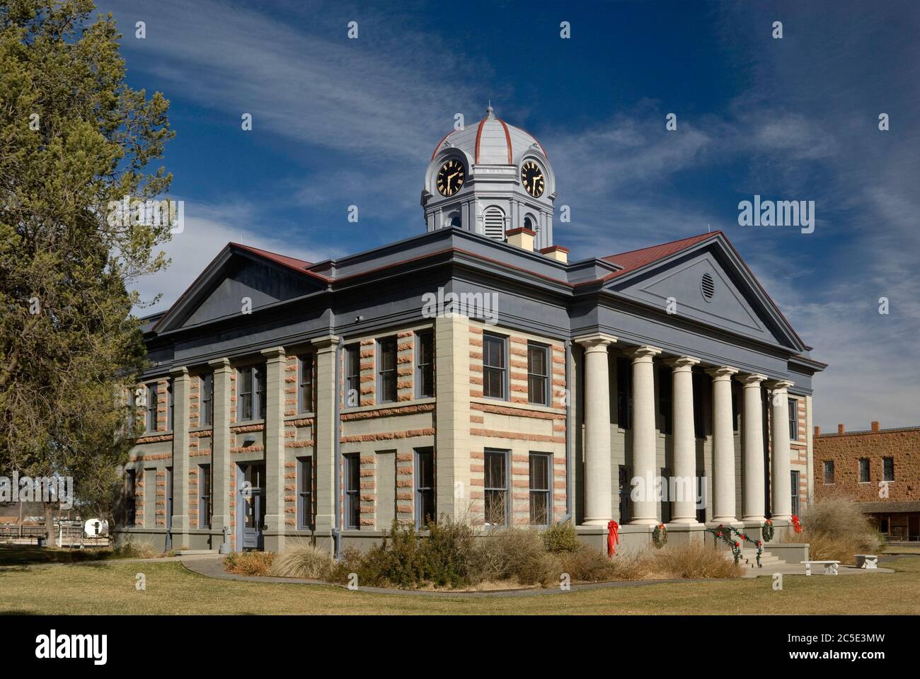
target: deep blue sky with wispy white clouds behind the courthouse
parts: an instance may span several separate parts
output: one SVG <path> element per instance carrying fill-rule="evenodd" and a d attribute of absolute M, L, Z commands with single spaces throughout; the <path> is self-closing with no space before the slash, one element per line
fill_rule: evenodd
<path fill-rule="evenodd" d="M 125 36 L 129 82 L 164 92 L 177 132 L 165 165 L 186 230 L 170 270 L 138 283 L 163 294 L 144 313 L 228 240 L 317 260 L 420 233 L 434 145 L 490 98 L 546 147 L 573 259 L 722 229 L 831 364 L 817 424 L 920 423 L 920 3 L 98 8 Z M 740 226 L 754 194 L 815 201 L 814 233 Z"/>

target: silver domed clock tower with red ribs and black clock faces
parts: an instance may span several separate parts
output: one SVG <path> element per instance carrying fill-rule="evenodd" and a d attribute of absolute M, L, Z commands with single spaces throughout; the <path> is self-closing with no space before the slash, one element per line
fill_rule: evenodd
<path fill-rule="evenodd" d="M 454 226 L 489 238 L 527 228 L 535 249 L 553 245 L 556 177 L 546 149 L 496 118 L 491 105 L 475 126 L 444 135 L 421 191 L 429 231 Z"/>

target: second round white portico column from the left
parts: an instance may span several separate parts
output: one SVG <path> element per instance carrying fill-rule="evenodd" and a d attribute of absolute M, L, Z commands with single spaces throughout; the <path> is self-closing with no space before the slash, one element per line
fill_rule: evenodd
<path fill-rule="evenodd" d="M 633 476 L 642 479 L 642 500 L 633 502 L 631 524 L 658 524 L 658 498 L 651 491 L 658 476 L 655 432 L 655 371 L 652 358 L 657 347 L 643 346 L 629 352 L 633 360 Z"/>

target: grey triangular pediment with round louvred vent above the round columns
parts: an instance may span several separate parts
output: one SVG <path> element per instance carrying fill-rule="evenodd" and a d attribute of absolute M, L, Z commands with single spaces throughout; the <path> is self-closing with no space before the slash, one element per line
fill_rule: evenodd
<path fill-rule="evenodd" d="M 606 288 L 713 328 L 805 349 L 724 236 L 616 276 Z"/>

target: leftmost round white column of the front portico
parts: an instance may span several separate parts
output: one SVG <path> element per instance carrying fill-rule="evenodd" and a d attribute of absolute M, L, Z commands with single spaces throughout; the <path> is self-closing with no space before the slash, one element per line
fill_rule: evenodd
<path fill-rule="evenodd" d="M 575 341 L 584 347 L 584 519 L 581 523 L 605 526 L 613 518 L 607 347 L 616 338 L 597 334 Z"/>

